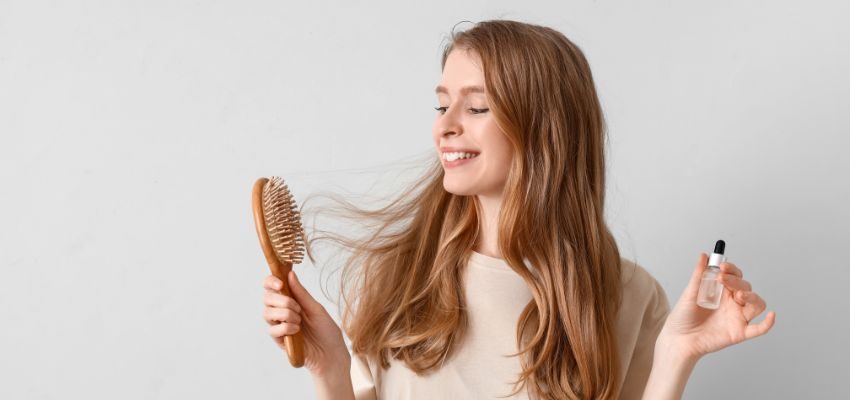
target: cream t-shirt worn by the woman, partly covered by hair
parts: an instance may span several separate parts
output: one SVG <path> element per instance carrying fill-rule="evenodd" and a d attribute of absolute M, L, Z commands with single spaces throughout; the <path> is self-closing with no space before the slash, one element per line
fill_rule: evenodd
<path fill-rule="evenodd" d="M 521 372 L 516 326 L 531 291 L 500 258 L 472 252 L 464 268 L 469 331 L 457 354 L 433 373 L 418 376 L 404 362 L 390 358 L 382 369 L 371 357 L 352 354 L 351 380 L 357 400 L 496 399 L 507 396 Z M 664 289 L 643 267 L 623 258 L 623 304 L 619 314 L 622 395 L 640 399 L 655 339 L 670 306 Z M 528 399 L 526 388 L 507 399 Z"/>

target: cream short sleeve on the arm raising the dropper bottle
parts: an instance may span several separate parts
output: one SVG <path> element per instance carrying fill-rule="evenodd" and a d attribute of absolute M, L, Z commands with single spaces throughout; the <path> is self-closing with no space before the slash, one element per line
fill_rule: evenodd
<path fill-rule="evenodd" d="M 670 302 L 664 288 L 654 278 L 650 281 L 650 299 L 644 309 L 632 360 L 620 391 L 620 400 L 639 400 L 643 396 L 649 372 L 652 370 L 655 340 L 664 327 L 667 315 L 670 314 Z"/>

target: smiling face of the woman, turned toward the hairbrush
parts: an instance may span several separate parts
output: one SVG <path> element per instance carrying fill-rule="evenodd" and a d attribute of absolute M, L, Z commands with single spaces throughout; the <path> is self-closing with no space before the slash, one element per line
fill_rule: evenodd
<path fill-rule="evenodd" d="M 457 195 L 501 197 L 511 146 L 489 111 L 481 59 L 454 49 L 437 86 L 439 110 L 432 129 L 445 170 L 443 187 Z M 458 152 L 464 159 L 457 158 Z"/>

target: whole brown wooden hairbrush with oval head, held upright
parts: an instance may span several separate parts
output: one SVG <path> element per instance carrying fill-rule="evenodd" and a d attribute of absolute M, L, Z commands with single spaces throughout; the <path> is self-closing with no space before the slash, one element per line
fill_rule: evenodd
<path fill-rule="evenodd" d="M 252 196 L 254 225 L 260 238 L 260 247 L 272 275 L 283 281 L 281 292 L 292 297 L 287 279 L 292 264 L 303 258 L 304 230 L 301 216 L 283 179 L 273 176 L 260 178 L 254 183 Z M 284 346 L 292 366 L 304 366 L 304 338 L 301 331 L 284 336 Z"/>

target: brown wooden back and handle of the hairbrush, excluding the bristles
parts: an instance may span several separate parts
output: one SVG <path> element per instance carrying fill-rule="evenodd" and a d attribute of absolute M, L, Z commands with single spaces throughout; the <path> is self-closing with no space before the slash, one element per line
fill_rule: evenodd
<path fill-rule="evenodd" d="M 281 262 L 275 254 L 272 247 L 269 232 L 266 228 L 266 219 L 263 215 L 263 186 L 268 182 L 267 178 L 260 178 L 254 183 L 251 205 L 254 211 L 254 226 L 257 228 L 257 236 L 260 239 L 260 247 L 263 248 L 263 254 L 266 256 L 266 262 L 269 264 L 269 269 L 272 275 L 283 281 L 281 292 L 289 297 L 292 293 L 289 291 L 289 279 L 287 275 L 292 269 L 292 263 Z M 303 327 L 302 319 L 302 327 Z M 293 367 L 301 368 L 304 366 L 304 338 L 301 336 L 301 331 L 295 334 L 283 337 L 283 344 L 286 347 L 286 354 L 289 356 L 289 363 Z"/>

